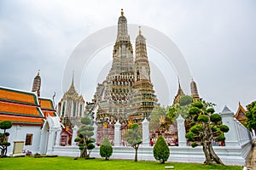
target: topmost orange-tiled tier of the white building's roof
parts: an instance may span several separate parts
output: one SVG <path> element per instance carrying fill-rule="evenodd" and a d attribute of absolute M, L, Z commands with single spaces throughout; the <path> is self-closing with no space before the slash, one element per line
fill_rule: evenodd
<path fill-rule="evenodd" d="M 38 105 L 38 99 L 35 94 L 2 87 L 0 87 L 0 100 L 28 105 Z"/>

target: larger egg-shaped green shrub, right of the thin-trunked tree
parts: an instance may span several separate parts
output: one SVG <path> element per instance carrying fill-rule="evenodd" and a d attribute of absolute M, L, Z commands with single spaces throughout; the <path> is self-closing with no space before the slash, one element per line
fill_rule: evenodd
<path fill-rule="evenodd" d="M 154 158 L 160 163 L 165 163 L 170 156 L 170 149 L 166 144 L 166 140 L 161 135 L 157 138 L 153 148 Z"/>

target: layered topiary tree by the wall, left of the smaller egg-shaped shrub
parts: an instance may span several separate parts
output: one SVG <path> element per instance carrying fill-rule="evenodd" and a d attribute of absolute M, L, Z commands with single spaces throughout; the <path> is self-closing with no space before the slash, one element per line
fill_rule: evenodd
<path fill-rule="evenodd" d="M 94 134 L 94 127 L 90 125 L 89 117 L 82 118 L 81 122 L 83 125 L 79 128 L 79 138 L 74 141 L 79 142 L 80 157 L 89 158 L 91 150 L 95 148 L 93 143 L 95 143 L 96 139 L 91 138 Z"/>

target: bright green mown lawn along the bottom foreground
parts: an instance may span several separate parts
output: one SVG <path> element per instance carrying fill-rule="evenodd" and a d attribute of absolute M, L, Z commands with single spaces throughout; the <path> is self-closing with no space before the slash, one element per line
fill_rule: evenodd
<path fill-rule="evenodd" d="M 73 157 L 42 157 L 34 158 L 33 156 L 26 157 L 10 157 L 0 158 L 0 169 L 165 169 L 165 166 L 174 166 L 174 169 L 178 170 L 206 170 L 206 169 L 232 169 L 238 170 L 242 167 L 234 166 L 221 166 L 221 165 L 203 165 L 194 163 L 177 163 L 167 162 L 166 164 L 160 164 L 159 161 L 138 161 L 131 160 L 112 160 L 109 161 L 103 159 L 84 160 L 79 158 L 74 160 Z"/>

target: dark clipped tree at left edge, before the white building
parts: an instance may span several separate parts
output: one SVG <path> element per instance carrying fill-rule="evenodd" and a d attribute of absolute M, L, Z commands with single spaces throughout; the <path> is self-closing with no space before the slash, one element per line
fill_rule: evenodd
<path fill-rule="evenodd" d="M 7 148 L 10 143 L 7 141 L 9 133 L 6 132 L 6 129 L 12 127 L 12 122 L 10 121 L 3 121 L 0 122 L 0 128 L 3 129 L 3 133 L 0 133 L 0 150 L 1 150 L 1 157 L 6 157 Z"/>

